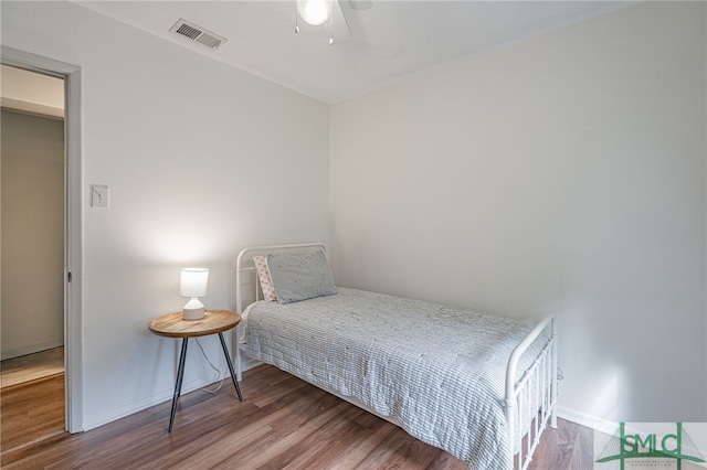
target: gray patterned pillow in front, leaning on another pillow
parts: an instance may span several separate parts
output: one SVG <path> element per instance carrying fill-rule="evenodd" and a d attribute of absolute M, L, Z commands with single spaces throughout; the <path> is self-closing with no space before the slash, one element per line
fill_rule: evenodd
<path fill-rule="evenodd" d="M 336 293 L 331 268 L 324 252 L 302 256 L 270 255 L 267 269 L 279 303 Z"/>

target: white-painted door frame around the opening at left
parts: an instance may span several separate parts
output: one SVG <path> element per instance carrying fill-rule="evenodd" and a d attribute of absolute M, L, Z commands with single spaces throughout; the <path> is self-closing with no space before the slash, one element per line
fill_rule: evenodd
<path fill-rule="evenodd" d="M 64 79 L 64 368 L 66 430 L 83 431 L 81 67 L 0 46 L 0 63 Z"/>

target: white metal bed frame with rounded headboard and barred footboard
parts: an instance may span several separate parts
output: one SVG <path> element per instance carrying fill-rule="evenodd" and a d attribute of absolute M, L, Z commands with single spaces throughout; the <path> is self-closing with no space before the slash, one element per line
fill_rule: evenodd
<path fill-rule="evenodd" d="M 254 301 L 261 300 L 260 280 L 255 274 L 255 267 L 252 257 L 257 253 L 270 254 L 273 252 L 310 252 L 321 249 L 326 253 L 326 246 L 323 243 L 298 243 L 298 244 L 281 244 L 281 245 L 262 245 L 247 247 L 239 253 L 235 261 L 235 310 L 243 312 L 243 275 L 251 274 L 253 278 Z M 247 255 L 251 255 L 247 257 Z M 238 381 L 243 380 L 243 356 L 240 343 L 242 325 L 236 327 L 235 339 L 235 367 Z M 520 371 L 518 377 L 518 362 L 530 344 L 544 332 L 548 332 L 547 341 L 540 353 L 535 357 L 532 363 L 525 370 Z M 363 409 L 399 425 L 390 416 L 380 416 L 365 404 L 357 399 L 342 396 L 336 391 L 327 389 L 334 395 L 350 402 Z M 540 442 L 542 431 L 549 425 L 557 428 L 557 396 L 558 396 L 558 344 L 557 344 L 557 327 L 553 314 L 548 314 L 526 335 L 526 338 L 514 349 L 506 367 L 506 393 L 505 393 L 505 414 L 508 426 L 509 441 L 511 442 L 514 455 L 513 467 L 518 470 L 525 470 L 532 460 L 532 453 Z M 527 421 L 527 423 L 524 423 Z"/>

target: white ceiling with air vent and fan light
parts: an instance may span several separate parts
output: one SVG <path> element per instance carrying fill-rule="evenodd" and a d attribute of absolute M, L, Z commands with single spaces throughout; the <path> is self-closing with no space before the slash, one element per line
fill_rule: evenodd
<path fill-rule="evenodd" d="M 335 3 L 333 45 L 325 26 L 299 20 L 300 33 L 295 33 L 295 0 L 76 3 L 325 103 L 336 103 L 635 2 L 339 0 Z M 228 42 L 211 50 L 170 33 L 179 19 Z"/>

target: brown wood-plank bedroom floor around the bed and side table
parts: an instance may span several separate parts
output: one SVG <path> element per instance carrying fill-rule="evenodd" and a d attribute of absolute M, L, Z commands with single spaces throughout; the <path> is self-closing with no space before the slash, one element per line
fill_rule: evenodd
<path fill-rule="evenodd" d="M 3 469 L 465 469 L 449 453 L 272 366 L 247 371 L 241 403 L 230 384 L 214 395 L 162 403 L 88 432 L 2 455 Z M 591 469 L 591 431 L 549 429 L 532 469 Z M 588 464 L 588 466 L 585 466 Z"/>

